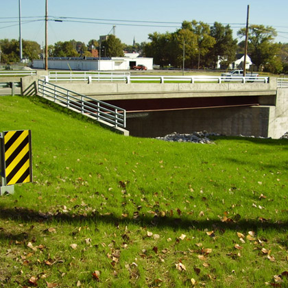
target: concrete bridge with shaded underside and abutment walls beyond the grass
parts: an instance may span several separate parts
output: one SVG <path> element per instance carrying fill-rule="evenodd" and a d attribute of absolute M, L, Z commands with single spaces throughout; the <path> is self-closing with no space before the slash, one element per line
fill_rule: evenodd
<path fill-rule="evenodd" d="M 24 92 L 34 77 L 22 79 Z M 278 139 L 288 131 L 288 88 L 278 88 L 273 77 L 269 83 L 57 84 L 124 108 L 126 129 L 132 136 L 207 130 Z"/>

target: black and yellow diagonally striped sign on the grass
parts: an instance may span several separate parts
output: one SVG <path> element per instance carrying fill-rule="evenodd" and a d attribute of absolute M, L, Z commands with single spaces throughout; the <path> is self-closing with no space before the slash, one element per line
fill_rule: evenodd
<path fill-rule="evenodd" d="M 32 182 L 31 131 L 3 132 L 5 184 Z"/>

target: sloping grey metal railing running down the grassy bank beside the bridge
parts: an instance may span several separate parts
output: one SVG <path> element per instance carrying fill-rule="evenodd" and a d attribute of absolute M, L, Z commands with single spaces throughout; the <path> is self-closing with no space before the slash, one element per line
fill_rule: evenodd
<path fill-rule="evenodd" d="M 126 127 L 126 111 L 104 101 L 93 99 L 43 80 L 38 80 L 38 95 L 97 121 L 110 123 L 114 127 Z"/>

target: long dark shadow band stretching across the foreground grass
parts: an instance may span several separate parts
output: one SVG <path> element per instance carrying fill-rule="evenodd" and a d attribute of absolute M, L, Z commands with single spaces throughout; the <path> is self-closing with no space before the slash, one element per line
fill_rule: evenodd
<path fill-rule="evenodd" d="M 237 217 L 238 216 L 238 217 Z M 157 226 L 158 228 L 172 228 L 175 230 L 214 230 L 225 232 L 225 230 L 241 230 L 248 231 L 262 229 L 270 229 L 270 230 L 287 230 L 288 229 L 288 221 L 271 221 L 268 219 L 263 219 L 259 217 L 259 219 L 241 219 L 240 215 L 237 215 L 235 219 L 230 219 L 230 221 L 221 221 L 221 219 L 201 219 L 194 220 L 193 216 L 191 218 L 187 216 L 178 216 L 178 217 L 158 217 L 158 215 L 154 215 L 154 217 L 149 217 L 147 215 L 141 215 L 134 218 L 122 218 L 117 217 L 113 214 L 104 214 L 101 215 L 97 211 L 95 213 L 91 213 L 90 215 L 75 215 L 69 213 L 41 213 L 38 211 L 34 211 L 32 209 L 27 208 L 4 208 L 0 206 L 0 218 L 4 220 L 14 220 L 14 221 L 25 221 L 27 223 L 35 223 L 35 222 L 51 222 L 58 221 L 63 224 L 71 224 L 73 226 L 87 222 L 93 223 L 104 223 L 104 224 L 112 224 L 115 227 L 121 225 L 139 225 L 142 227 L 153 227 Z M 237 219 L 236 219 L 237 218 Z M 0 230 L 1 235 L 1 230 Z M 19 235 L 19 237 L 25 237 L 25 235 Z"/>

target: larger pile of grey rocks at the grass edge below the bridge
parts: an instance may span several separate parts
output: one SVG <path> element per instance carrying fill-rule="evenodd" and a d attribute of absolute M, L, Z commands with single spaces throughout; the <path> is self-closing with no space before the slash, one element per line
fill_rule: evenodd
<path fill-rule="evenodd" d="M 164 137 L 156 137 L 156 139 L 169 142 L 191 142 L 201 144 L 213 144 L 214 142 L 208 139 L 209 136 L 219 136 L 217 133 L 208 133 L 207 131 L 192 132 L 191 134 L 180 134 L 173 132 Z"/>

